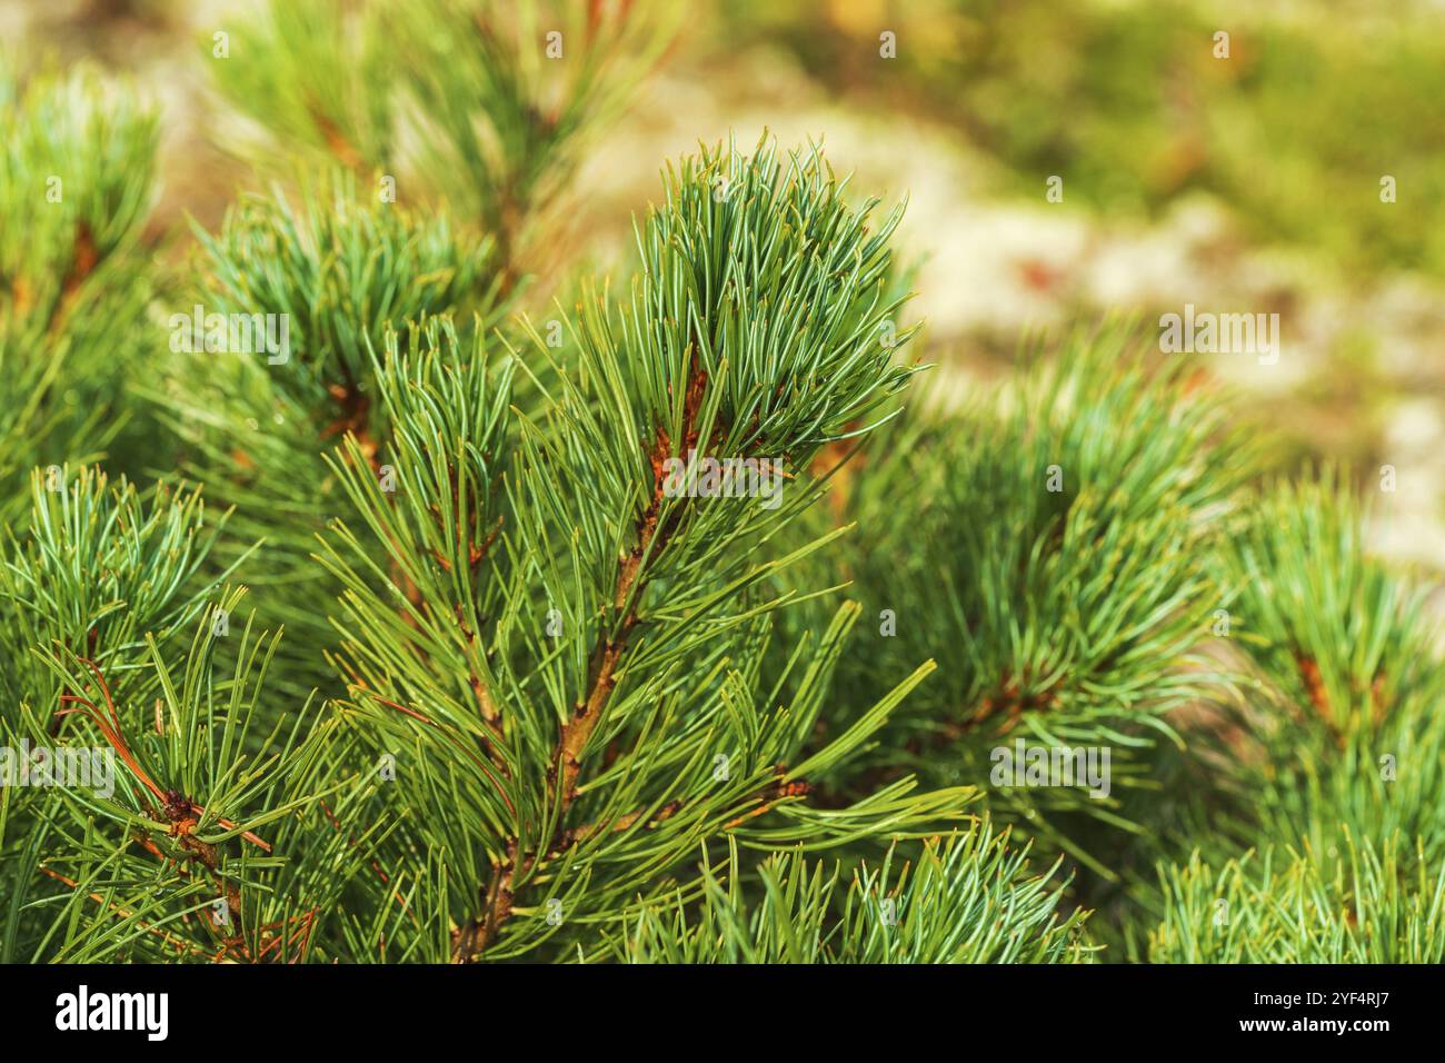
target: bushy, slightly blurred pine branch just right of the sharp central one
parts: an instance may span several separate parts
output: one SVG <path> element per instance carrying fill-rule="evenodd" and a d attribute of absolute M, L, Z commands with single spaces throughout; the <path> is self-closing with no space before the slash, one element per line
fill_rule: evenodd
<path fill-rule="evenodd" d="M 858 531 L 837 555 L 879 622 L 844 688 L 866 696 L 874 675 L 952 651 L 858 785 L 909 771 L 983 784 L 994 751 L 1019 739 L 1107 746 L 1116 794 L 988 797 L 1016 829 L 1113 876 L 1081 845 L 1079 814 L 1137 830 L 1117 794 L 1150 785 L 1144 751 L 1181 740 L 1173 710 L 1230 688 L 1209 655 L 1230 605 L 1209 557 L 1251 447 L 1188 363 L 1111 327 L 1071 338 L 1007 401 L 916 406 L 866 457 L 845 512 Z"/>

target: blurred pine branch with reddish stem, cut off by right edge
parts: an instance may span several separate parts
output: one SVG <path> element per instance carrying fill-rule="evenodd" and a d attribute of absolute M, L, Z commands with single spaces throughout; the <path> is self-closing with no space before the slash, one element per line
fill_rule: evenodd
<path fill-rule="evenodd" d="M 1367 506 L 1338 473 L 1269 484 L 1247 512 L 1221 561 L 1251 681 L 1199 740 L 1212 850 L 1399 834 L 1436 861 L 1445 667 L 1428 586 L 1367 551 Z"/>

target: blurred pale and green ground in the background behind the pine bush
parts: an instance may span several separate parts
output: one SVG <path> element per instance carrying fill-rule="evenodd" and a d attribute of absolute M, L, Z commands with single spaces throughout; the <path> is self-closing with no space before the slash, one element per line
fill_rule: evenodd
<path fill-rule="evenodd" d="M 254 7 L 0 0 L 7 48 L 90 58 L 162 108 L 166 253 L 254 181 L 207 69 L 212 33 Z M 1377 486 L 1393 466 L 1377 548 L 1445 568 L 1445 0 L 688 3 L 591 146 L 562 255 L 626 262 L 665 161 L 764 129 L 822 140 L 860 194 L 907 197 L 913 311 L 946 390 L 1111 314 L 1152 336 L 1185 304 L 1277 312 L 1276 364 L 1211 372 L 1282 470 L 1341 461 Z"/>

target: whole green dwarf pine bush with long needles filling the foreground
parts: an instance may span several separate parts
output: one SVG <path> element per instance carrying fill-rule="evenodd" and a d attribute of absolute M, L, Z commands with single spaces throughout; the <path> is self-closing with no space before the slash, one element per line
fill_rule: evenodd
<path fill-rule="evenodd" d="M 1445 959 L 1344 474 L 1127 324 L 946 401 L 816 145 L 556 260 L 663 9 L 266 4 L 166 257 L 147 106 L 0 68 L 0 959 Z"/>

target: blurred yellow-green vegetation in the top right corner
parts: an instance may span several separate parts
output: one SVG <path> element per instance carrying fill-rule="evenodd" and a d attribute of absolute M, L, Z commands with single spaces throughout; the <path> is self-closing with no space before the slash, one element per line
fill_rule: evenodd
<path fill-rule="evenodd" d="M 1387 9 L 1387 10 L 1386 10 Z M 1445 10 L 1318 0 L 834 0 L 725 6 L 850 106 L 958 127 L 1000 191 L 1152 217 L 1204 189 L 1251 239 L 1347 273 L 1445 273 Z M 881 30 L 897 58 L 879 58 Z M 1215 58 L 1227 32 L 1228 58 Z M 1399 201 L 1380 200 L 1380 179 Z"/>

